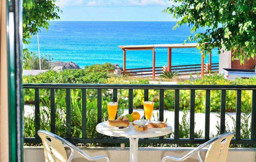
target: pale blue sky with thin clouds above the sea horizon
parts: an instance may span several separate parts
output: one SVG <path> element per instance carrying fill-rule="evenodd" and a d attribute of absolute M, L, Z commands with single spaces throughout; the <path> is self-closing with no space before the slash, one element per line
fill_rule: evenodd
<path fill-rule="evenodd" d="M 168 0 L 57 0 L 58 21 L 176 21 L 162 13 Z"/>

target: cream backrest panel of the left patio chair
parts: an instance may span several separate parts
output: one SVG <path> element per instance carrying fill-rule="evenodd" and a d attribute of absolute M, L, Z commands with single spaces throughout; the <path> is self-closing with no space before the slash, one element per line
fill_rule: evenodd
<path fill-rule="evenodd" d="M 41 137 L 43 142 L 45 162 L 68 161 L 65 148 L 62 142 L 56 139 L 55 134 L 44 130 L 39 130 L 38 135 Z"/>

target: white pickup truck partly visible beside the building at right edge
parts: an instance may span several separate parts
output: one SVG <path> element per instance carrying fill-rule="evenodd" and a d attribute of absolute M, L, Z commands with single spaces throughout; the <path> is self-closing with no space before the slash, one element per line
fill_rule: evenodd
<path fill-rule="evenodd" d="M 235 80 L 236 78 L 248 79 L 255 77 L 255 70 L 251 69 L 222 69 L 221 73 L 228 80 Z"/>

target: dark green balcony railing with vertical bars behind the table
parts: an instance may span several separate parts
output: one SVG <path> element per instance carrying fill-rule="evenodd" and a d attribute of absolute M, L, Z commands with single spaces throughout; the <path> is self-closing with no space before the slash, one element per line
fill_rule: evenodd
<path fill-rule="evenodd" d="M 55 133 L 55 89 L 66 89 L 66 140 L 72 143 L 129 143 L 127 138 L 102 138 L 98 133 L 98 138 L 86 137 L 86 90 L 97 89 L 98 100 L 98 123 L 102 121 L 102 89 L 113 89 L 113 101 L 117 101 L 118 89 L 129 89 L 129 113 L 133 112 L 133 90 L 144 89 L 144 100 L 148 101 L 148 90 L 159 90 L 159 121 L 164 121 L 164 90 L 175 90 L 174 98 L 174 139 L 172 138 L 145 138 L 140 139 L 139 143 L 176 143 L 176 144 L 201 144 L 210 139 L 210 93 L 211 90 L 221 90 L 221 111 L 220 111 L 220 133 L 225 132 L 225 114 L 226 114 L 226 90 L 236 90 L 236 136 L 232 139 L 231 144 L 255 144 L 256 131 L 256 86 L 254 85 L 134 85 L 134 84 L 23 84 L 23 88 L 32 88 L 35 90 L 35 114 L 40 113 L 39 108 L 39 89 L 50 89 L 50 103 L 51 103 L 51 132 Z M 71 107 L 70 107 L 70 90 L 82 90 L 82 138 L 72 138 L 71 128 Z M 179 138 L 179 97 L 180 90 L 190 90 L 190 138 Z M 195 114 L 195 90 L 205 90 L 205 130 L 204 139 L 194 138 L 194 114 Z M 241 126 L 241 90 L 252 90 L 252 105 L 251 105 L 251 138 L 240 138 Z M 36 132 L 40 129 L 39 116 L 35 115 Z M 41 139 L 35 133 L 35 138 L 25 138 L 25 143 L 40 143 Z"/>

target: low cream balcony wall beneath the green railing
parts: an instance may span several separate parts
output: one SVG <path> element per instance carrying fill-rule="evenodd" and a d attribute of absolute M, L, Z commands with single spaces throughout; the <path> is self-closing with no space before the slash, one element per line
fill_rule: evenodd
<path fill-rule="evenodd" d="M 89 156 L 106 155 L 111 162 L 129 162 L 129 147 L 123 150 L 120 147 L 87 147 L 82 149 Z M 182 157 L 193 148 L 139 148 L 138 161 L 139 162 L 161 162 L 162 158 L 166 155 Z M 201 151 L 201 155 L 204 158 L 207 149 Z M 69 156 L 70 151 L 67 150 Z M 24 162 L 44 162 L 44 150 L 43 147 L 28 147 L 24 146 Z M 167 160 L 171 162 L 171 160 Z M 167 162 L 166 161 L 166 162 Z M 72 162 L 87 162 L 78 153 L 74 154 Z M 98 160 L 98 162 L 104 162 L 104 160 Z M 198 162 L 197 155 L 194 154 L 185 162 Z M 231 148 L 228 152 L 227 162 L 255 162 L 255 148 Z"/>

